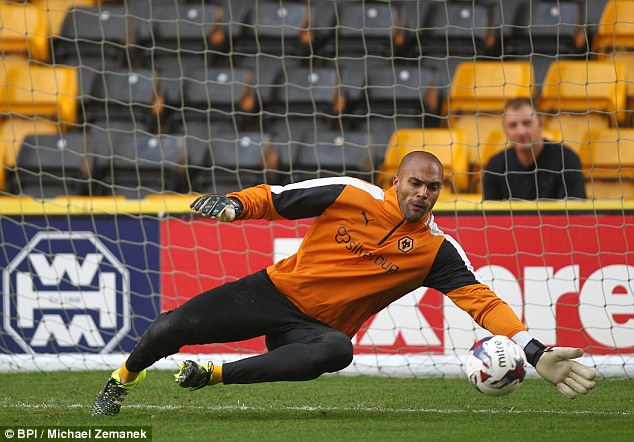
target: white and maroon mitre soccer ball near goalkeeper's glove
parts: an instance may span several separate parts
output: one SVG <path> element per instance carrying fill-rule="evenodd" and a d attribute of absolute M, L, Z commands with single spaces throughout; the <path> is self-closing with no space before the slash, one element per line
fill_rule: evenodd
<path fill-rule="evenodd" d="M 506 336 L 495 335 L 473 344 L 467 356 L 471 384 L 487 396 L 506 396 L 526 376 L 524 350 Z"/>

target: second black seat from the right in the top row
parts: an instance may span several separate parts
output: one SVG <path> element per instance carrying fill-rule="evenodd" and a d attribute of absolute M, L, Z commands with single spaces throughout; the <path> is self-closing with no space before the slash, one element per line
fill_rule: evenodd
<path fill-rule="evenodd" d="M 447 55 L 495 55 L 498 30 L 483 2 L 430 2 L 415 51 Z"/>

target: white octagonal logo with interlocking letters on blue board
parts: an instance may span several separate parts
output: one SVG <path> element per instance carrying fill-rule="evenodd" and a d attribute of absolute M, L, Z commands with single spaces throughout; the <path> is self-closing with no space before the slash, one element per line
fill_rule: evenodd
<path fill-rule="evenodd" d="M 106 353 L 130 330 L 129 275 L 92 232 L 39 232 L 3 272 L 4 329 L 29 353 Z"/>

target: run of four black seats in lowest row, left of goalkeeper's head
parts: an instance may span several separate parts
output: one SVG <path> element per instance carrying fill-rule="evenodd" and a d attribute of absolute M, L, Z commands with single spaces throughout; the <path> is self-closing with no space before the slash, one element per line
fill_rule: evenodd
<path fill-rule="evenodd" d="M 7 174 L 8 192 L 58 195 L 228 193 L 260 183 L 354 176 L 372 181 L 367 133 L 320 132 L 276 143 L 262 132 L 193 136 L 92 129 L 29 135 Z"/>

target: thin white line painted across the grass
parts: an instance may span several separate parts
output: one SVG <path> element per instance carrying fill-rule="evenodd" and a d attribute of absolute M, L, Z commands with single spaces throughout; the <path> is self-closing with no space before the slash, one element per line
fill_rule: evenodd
<path fill-rule="evenodd" d="M 19 408 L 19 409 L 60 409 L 64 408 L 61 404 L 29 404 L 25 402 L 7 403 L 2 402 L 2 406 L 5 408 Z M 252 407 L 248 405 L 213 405 L 213 406 L 193 406 L 193 405 L 147 405 L 147 404 L 125 404 L 125 408 L 132 408 L 137 410 L 159 410 L 159 411 L 173 411 L 173 410 L 206 410 L 206 411 L 358 411 L 358 412 L 370 412 L 370 413 L 437 413 L 437 414 L 468 414 L 468 413 L 490 413 L 490 414 L 561 414 L 561 415 L 600 415 L 600 416 L 629 416 L 631 413 L 628 411 L 590 411 L 590 410 L 499 410 L 499 409 L 459 409 L 459 408 L 380 408 L 380 407 L 329 407 L 329 406 L 309 406 L 302 407 Z M 88 410 L 90 407 L 84 404 L 68 404 L 65 406 L 68 409 L 85 408 Z"/>

